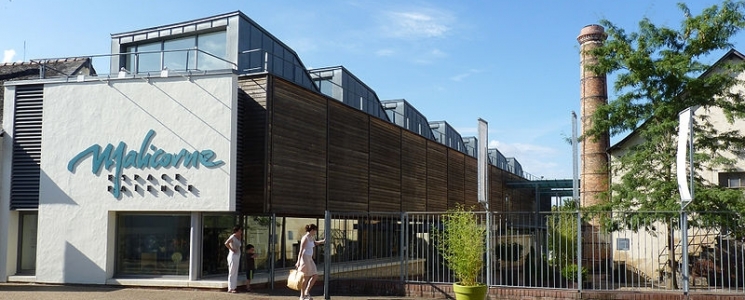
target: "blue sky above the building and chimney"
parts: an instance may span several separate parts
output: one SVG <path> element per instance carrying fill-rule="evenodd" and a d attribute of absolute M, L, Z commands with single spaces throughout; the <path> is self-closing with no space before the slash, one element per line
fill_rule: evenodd
<path fill-rule="evenodd" d="M 241 10 L 306 67 L 342 65 L 381 100 L 404 98 L 464 137 L 482 118 L 490 148 L 535 176 L 571 178 L 580 29 L 608 19 L 636 31 L 643 17 L 677 28 L 677 2 L 0 0 L 0 51 L 3 62 L 105 54 L 112 33 Z M 720 3 L 688 2 L 692 14 Z"/>

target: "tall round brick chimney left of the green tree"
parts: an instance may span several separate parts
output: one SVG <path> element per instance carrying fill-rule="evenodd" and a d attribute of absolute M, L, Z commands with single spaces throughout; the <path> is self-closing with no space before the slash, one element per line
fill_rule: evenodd
<path fill-rule="evenodd" d="M 599 106 L 608 103 L 608 85 L 605 74 L 595 74 L 587 66 L 597 63 L 597 58 L 590 55 L 590 50 L 603 44 L 606 35 L 600 25 L 588 25 L 582 28 L 577 37 L 580 45 L 580 118 L 582 125 L 582 149 L 580 162 L 580 203 L 590 206 L 602 202 L 600 193 L 608 191 L 608 156 L 610 147 L 609 135 L 597 138 L 587 137 L 587 130 L 592 128 L 592 115 Z"/>

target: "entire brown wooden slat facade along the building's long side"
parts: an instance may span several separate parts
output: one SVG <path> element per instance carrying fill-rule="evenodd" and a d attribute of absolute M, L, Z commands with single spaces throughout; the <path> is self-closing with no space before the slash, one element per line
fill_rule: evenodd
<path fill-rule="evenodd" d="M 271 75 L 239 81 L 239 100 L 255 102 L 241 125 L 251 156 L 238 183 L 244 213 L 322 217 L 327 209 L 478 205 L 476 158 Z M 508 190 L 506 180 L 525 179 L 489 166 L 492 210 L 508 209 L 507 196 L 513 210 L 532 210 L 534 192 Z"/>

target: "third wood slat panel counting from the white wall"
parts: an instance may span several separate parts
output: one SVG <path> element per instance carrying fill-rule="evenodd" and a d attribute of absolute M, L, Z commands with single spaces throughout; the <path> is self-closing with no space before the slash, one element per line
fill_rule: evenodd
<path fill-rule="evenodd" d="M 368 210 L 370 117 L 338 101 L 329 108 L 329 199 L 337 211 Z"/>

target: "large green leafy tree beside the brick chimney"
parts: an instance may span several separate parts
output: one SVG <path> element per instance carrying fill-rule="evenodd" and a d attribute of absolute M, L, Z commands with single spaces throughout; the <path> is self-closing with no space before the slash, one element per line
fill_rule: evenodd
<path fill-rule="evenodd" d="M 610 229 L 654 229 L 659 222 L 670 222 L 669 237 L 677 224 L 680 196 L 675 172 L 678 113 L 698 106 L 694 123 L 694 165 L 703 170 L 727 169 L 734 161 L 723 153 L 745 149 L 741 132 L 714 126 L 706 113 L 721 108 L 732 124 L 745 118 L 743 94 L 733 89 L 742 86 L 737 74 L 744 70 L 742 59 L 718 61 L 714 65 L 704 60 L 710 54 L 732 48 L 730 40 L 745 27 L 743 2 L 724 1 L 692 16 L 685 4 L 678 4 L 683 20 L 677 29 L 657 26 L 646 18 L 639 22 L 637 32 L 626 33 L 608 20 L 606 42 L 591 50 L 598 63 L 590 66 L 598 74 L 615 73 L 617 98 L 600 107 L 593 116 L 594 127 L 587 136 L 603 133 L 617 135 L 633 131 L 638 143 L 626 148 L 614 158 L 611 172 L 614 179 L 607 203 L 596 209 L 633 210 L 616 218 Z M 691 226 L 718 226 L 742 232 L 745 224 L 745 201 L 742 191 L 720 188 L 700 176 L 695 178 L 695 199 L 687 208 L 693 211 L 728 211 L 726 217 L 696 218 Z M 644 212 L 644 213 L 642 213 Z M 720 215 L 724 216 L 724 215 Z M 732 216 L 735 216 L 734 218 Z M 668 238 L 669 240 L 669 238 Z M 668 243 L 672 253 L 673 246 Z M 674 255 L 670 255 L 674 260 Z M 677 264 L 670 261 L 670 269 Z M 672 276 L 675 278 L 675 276 Z M 673 281 L 673 287 L 677 284 Z"/>

